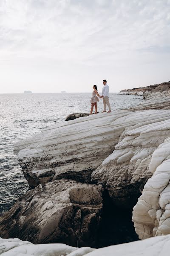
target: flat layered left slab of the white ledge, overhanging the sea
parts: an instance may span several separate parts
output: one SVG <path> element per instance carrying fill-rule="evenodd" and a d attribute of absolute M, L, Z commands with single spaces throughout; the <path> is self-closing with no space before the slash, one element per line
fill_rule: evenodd
<path fill-rule="evenodd" d="M 129 113 L 99 113 L 63 121 L 21 140 L 14 150 L 29 185 L 59 178 L 90 183 L 91 173 L 113 152 L 126 126 L 123 117 Z"/>

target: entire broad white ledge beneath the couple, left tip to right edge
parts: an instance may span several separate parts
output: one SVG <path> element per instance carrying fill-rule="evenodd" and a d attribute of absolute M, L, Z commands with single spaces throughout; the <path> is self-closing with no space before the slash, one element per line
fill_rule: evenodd
<path fill-rule="evenodd" d="M 169 119 L 169 110 L 100 113 L 54 125 L 17 143 L 15 152 L 31 186 L 58 178 L 90 182 L 99 167 L 96 182 L 125 187 L 145 177 L 153 151 L 170 136 Z"/>

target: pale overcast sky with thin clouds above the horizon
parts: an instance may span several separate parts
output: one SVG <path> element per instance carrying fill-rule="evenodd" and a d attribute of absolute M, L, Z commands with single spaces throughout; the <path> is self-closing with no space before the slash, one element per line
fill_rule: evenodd
<path fill-rule="evenodd" d="M 0 0 L 0 93 L 170 81 L 170 0 Z"/>

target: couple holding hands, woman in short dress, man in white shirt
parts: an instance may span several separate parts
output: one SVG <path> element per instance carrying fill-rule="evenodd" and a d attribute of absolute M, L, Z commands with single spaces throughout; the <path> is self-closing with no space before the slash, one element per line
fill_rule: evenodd
<path fill-rule="evenodd" d="M 107 81 L 103 80 L 102 96 L 100 96 L 99 93 L 97 92 L 97 86 L 96 85 L 93 86 L 93 89 L 94 89 L 94 91 L 92 93 L 92 98 L 91 98 L 91 101 L 90 101 L 90 103 L 91 103 L 91 113 L 90 113 L 90 115 L 93 112 L 94 106 L 95 106 L 95 114 L 97 114 L 97 102 L 99 102 L 98 97 L 103 99 L 104 110 L 102 111 L 102 113 L 106 112 L 106 105 L 108 105 L 108 108 L 109 108 L 108 113 L 110 113 L 111 112 L 111 105 L 109 103 L 109 86 L 107 84 Z"/>

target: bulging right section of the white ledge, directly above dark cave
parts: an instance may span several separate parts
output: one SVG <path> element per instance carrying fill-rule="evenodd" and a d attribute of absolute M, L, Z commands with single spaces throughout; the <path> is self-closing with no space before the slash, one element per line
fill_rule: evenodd
<path fill-rule="evenodd" d="M 165 115 L 164 115 L 165 114 Z M 113 198 L 131 197 L 152 175 L 149 164 L 153 152 L 170 137 L 169 111 L 132 112 L 118 123 L 126 124 L 115 150 L 92 173 L 92 180 L 102 183 Z M 114 122 L 115 128 L 118 124 Z M 133 202 L 132 202 L 133 203 Z M 125 202 L 124 202 L 125 204 Z"/>

